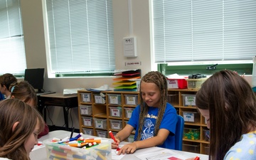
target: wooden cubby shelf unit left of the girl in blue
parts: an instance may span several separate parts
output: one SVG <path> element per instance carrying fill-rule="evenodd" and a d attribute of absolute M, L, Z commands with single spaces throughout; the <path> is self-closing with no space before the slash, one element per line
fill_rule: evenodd
<path fill-rule="evenodd" d="M 100 94 L 105 95 L 105 102 L 102 104 L 97 103 L 99 102 L 99 97 L 97 96 L 100 96 Z M 120 129 L 124 128 L 126 122 L 129 120 L 129 118 L 126 117 L 126 112 L 130 115 L 132 111 L 129 110 L 133 110 L 137 105 L 139 105 L 139 92 L 104 91 L 99 93 L 78 90 L 78 118 L 80 132 L 93 136 L 110 138 L 108 132 L 112 131 L 113 134 L 116 134 Z M 81 107 L 84 106 L 91 106 L 92 114 L 82 114 Z M 91 126 L 84 125 L 84 118 L 92 119 Z M 106 121 L 107 127 L 99 128 L 99 125 L 95 124 L 95 119 Z M 120 127 L 121 125 L 122 127 Z M 102 134 L 98 135 L 97 131 L 102 132 Z M 134 136 L 133 134 L 134 132 L 130 139 Z"/>

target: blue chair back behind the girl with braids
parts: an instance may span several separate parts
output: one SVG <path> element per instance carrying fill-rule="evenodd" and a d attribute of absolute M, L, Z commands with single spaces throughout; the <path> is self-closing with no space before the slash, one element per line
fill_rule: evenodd
<path fill-rule="evenodd" d="M 182 140 L 183 140 L 183 129 L 184 129 L 184 119 L 181 115 L 178 115 L 178 121 L 176 124 L 175 132 L 175 149 L 182 151 Z"/>

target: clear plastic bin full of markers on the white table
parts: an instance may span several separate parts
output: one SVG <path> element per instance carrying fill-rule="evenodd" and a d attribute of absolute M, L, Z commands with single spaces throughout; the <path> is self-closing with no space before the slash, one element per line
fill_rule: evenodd
<path fill-rule="evenodd" d="M 48 159 L 60 159 L 60 157 L 62 159 L 87 159 L 88 157 L 96 156 L 99 159 L 111 160 L 111 141 L 109 139 L 104 140 L 105 142 L 91 146 L 87 149 L 80 149 L 74 146 L 65 146 L 63 144 L 52 143 L 50 142 L 51 139 L 46 139 L 43 141 L 43 144 L 46 144 L 46 154 Z M 98 159 L 96 157 L 95 159 Z"/>

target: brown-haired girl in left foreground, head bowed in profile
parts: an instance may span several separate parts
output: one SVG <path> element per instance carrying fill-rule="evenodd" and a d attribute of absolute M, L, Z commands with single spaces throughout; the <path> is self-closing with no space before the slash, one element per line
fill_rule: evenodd
<path fill-rule="evenodd" d="M 14 112 L 15 111 L 15 112 Z M 29 160 L 43 129 L 41 114 L 21 100 L 0 102 L 0 159 Z"/>

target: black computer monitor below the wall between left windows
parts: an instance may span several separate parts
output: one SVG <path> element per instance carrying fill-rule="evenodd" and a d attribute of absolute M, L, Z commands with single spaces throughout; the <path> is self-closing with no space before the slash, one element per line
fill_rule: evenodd
<path fill-rule="evenodd" d="M 28 81 L 36 92 L 43 92 L 44 68 L 26 69 L 24 80 Z"/>

